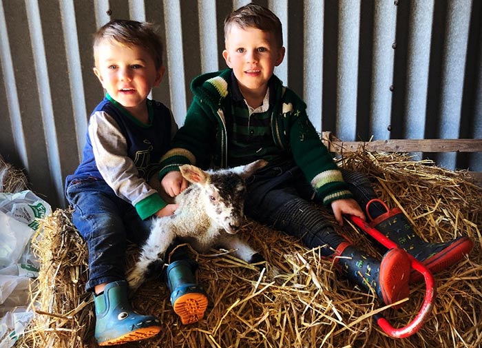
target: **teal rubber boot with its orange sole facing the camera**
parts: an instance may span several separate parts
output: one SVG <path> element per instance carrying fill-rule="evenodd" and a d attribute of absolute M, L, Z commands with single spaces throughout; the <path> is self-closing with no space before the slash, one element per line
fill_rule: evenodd
<path fill-rule="evenodd" d="M 207 296 L 197 285 L 191 264 L 187 260 L 174 261 L 167 267 L 166 276 L 171 304 L 182 324 L 196 323 L 204 318 Z"/>

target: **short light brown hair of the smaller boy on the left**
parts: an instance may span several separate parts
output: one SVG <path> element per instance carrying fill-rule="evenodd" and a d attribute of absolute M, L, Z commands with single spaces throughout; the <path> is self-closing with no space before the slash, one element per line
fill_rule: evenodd
<path fill-rule="evenodd" d="M 156 69 L 163 66 L 163 41 L 152 23 L 113 19 L 94 34 L 94 55 L 96 48 L 104 40 L 121 43 L 127 47 L 138 46 L 149 52 Z"/>

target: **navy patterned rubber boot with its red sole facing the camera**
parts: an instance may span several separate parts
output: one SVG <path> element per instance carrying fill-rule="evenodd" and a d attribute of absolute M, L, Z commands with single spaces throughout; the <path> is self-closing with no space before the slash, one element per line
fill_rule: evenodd
<path fill-rule="evenodd" d="M 410 287 L 410 258 L 402 249 L 390 249 L 381 261 L 360 252 L 348 242 L 340 244 L 335 262 L 348 280 L 367 291 L 375 291 L 385 304 L 391 305 L 408 298 Z M 393 306 L 399 308 L 401 304 Z"/>

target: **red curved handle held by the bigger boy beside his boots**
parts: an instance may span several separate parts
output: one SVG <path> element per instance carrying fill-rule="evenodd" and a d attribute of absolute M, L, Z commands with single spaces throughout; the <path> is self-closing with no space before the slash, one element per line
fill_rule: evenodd
<path fill-rule="evenodd" d="M 385 247 L 388 249 L 393 249 L 395 247 L 399 247 L 397 243 L 393 242 L 392 240 L 388 239 L 384 234 L 379 232 L 378 229 L 375 229 L 368 225 L 366 221 L 363 221 L 361 218 L 357 216 L 350 215 L 351 221 L 355 223 L 358 227 L 364 230 L 364 232 L 370 234 L 373 238 L 379 241 L 379 243 L 383 244 Z M 408 254 L 408 253 L 407 253 Z M 378 325 L 385 331 L 388 336 L 394 337 L 394 338 L 406 338 L 408 336 L 411 336 L 412 334 L 415 334 L 421 327 L 423 326 L 423 323 L 426 322 L 428 319 L 428 316 L 430 315 L 430 312 L 432 311 L 433 305 L 434 305 L 434 298 L 435 298 L 435 286 L 434 286 L 434 278 L 432 276 L 432 273 L 425 267 L 422 263 L 420 263 L 416 258 L 414 258 L 412 255 L 408 254 L 408 257 L 411 260 L 411 266 L 415 271 L 421 273 L 423 275 L 423 278 L 425 279 L 426 283 L 426 291 L 425 291 L 425 298 L 423 299 L 423 303 L 421 305 L 421 309 L 417 316 L 413 318 L 413 320 L 408 323 L 404 327 L 399 327 L 395 328 L 388 323 L 388 320 L 386 320 L 383 316 L 380 315 L 375 315 L 375 318 L 377 320 Z"/>

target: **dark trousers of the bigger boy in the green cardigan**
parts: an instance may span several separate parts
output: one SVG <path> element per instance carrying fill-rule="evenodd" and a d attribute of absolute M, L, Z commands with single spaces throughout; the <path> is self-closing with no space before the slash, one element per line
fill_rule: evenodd
<path fill-rule="evenodd" d="M 342 170 L 344 181 L 365 209 L 375 191 L 364 174 Z M 287 163 L 256 172 L 248 179 L 244 211 L 250 218 L 300 238 L 306 247 L 322 247 L 322 255 L 330 256 L 345 238 L 320 214 L 320 200 L 299 167 Z M 370 205 L 374 218 L 384 213 L 383 207 Z"/>

